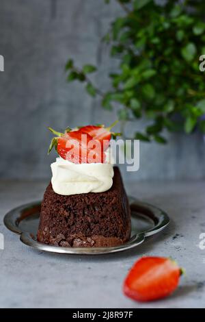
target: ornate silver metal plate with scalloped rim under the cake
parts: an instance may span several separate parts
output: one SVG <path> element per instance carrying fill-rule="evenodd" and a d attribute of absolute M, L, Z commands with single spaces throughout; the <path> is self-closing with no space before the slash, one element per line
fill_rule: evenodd
<path fill-rule="evenodd" d="M 169 224 L 169 216 L 155 206 L 129 198 L 131 205 L 131 239 L 116 247 L 58 247 L 39 243 L 36 240 L 40 216 L 40 201 L 19 206 L 5 215 L 4 223 L 9 230 L 20 234 L 20 240 L 28 246 L 53 253 L 98 255 L 131 249 L 143 243 L 147 236 L 163 230 Z"/>

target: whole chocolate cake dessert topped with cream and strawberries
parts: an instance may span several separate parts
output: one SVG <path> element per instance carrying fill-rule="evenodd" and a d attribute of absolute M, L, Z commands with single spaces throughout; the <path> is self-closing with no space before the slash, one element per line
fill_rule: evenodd
<path fill-rule="evenodd" d="M 49 128 L 51 129 L 51 128 Z M 131 211 L 118 167 L 113 166 L 111 127 L 51 129 L 59 158 L 40 212 L 38 241 L 61 247 L 113 247 L 129 240 Z"/>

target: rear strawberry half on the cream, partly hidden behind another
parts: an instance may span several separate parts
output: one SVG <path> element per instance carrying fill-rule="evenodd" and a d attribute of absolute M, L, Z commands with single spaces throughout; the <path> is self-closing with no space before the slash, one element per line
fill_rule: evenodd
<path fill-rule="evenodd" d="M 111 136 L 118 136 L 120 133 L 110 132 L 111 128 L 114 127 L 118 121 L 115 121 L 110 127 L 104 127 L 104 125 L 87 125 L 80 127 L 80 131 L 86 134 L 89 134 L 94 138 L 94 140 L 98 140 L 101 145 L 103 151 L 106 151 L 109 147 L 109 141 L 111 140 Z"/>

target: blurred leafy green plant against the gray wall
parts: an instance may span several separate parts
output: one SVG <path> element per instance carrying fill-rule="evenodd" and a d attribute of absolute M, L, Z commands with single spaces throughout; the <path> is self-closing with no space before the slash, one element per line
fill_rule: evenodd
<path fill-rule="evenodd" d="M 119 67 L 109 75 L 111 90 L 102 92 L 90 81 L 96 67 L 82 69 L 68 60 L 68 82 L 78 79 L 87 92 L 102 97 L 102 107 L 119 106 L 123 121 L 150 119 L 144 132 L 135 138 L 165 143 L 163 129 L 191 133 L 196 125 L 205 132 L 205 82 L 199 70 L 199 57 L 205 53 L 204 0 L 116 1 L 124 15 L 111 23 L 103 38 L 111 47 L 111 57 L 119 58 Z"/>

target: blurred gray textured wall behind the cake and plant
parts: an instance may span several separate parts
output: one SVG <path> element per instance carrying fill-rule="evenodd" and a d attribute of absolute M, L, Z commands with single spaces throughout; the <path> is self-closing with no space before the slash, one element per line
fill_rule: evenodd
<path fill-rule="evenodd" d="M 50 176 L 46 156 L 56 129 L 86 123 L 111 123 L 115 112 L 100 108 L 81 84 L 66 84 L 64 64 L 74 57 L 79 65 L 100 65 L 99 86 L 108 88 L 107 72 L 115 66 L 100 38 L 121 12 L 103 0 L 1 0 L 0 73 L 1 177 Z M 128 126 L 140 129 L 142 121 Z M 200 134 L 169 136 L 166 146 L 141 143 L 139 172 L 132 179 L 179 179 L 205 176 L 205 145 Z"/>

